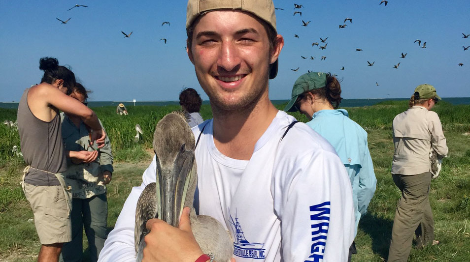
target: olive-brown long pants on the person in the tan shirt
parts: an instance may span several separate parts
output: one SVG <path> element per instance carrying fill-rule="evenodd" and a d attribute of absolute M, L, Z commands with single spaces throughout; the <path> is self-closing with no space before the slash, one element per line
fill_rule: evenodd
<path fill-rule="evenodd" d="M 431 173 L 392 176 L 402 191 L 402 197 L 395 211 L 387 261 L 406 262 L 413 241 L 413 232 L 416 234 L 418 248 L 433 243 L 434 240 L 434 219 L 429 204 Z"/>

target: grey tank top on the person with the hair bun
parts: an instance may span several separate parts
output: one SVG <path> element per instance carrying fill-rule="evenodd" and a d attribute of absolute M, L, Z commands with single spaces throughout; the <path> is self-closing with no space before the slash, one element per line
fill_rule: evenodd
<path fill-rule="evenodd" d="M 25 183 L 40 186 L 60 185 L 59 179 L 54 174 L 67 170 L 67 159 L 62 142 L 59 110 L 50 122 L 37 118 L 28 106 L 29 90 L 30 88 L 23 92 L 18 105 L 21 152 L 26 164 L 34 168 L 26 174 Z"/>

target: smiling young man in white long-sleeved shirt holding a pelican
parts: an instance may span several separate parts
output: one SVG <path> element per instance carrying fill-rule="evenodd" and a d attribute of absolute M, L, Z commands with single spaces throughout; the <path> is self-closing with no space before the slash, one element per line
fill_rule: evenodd
<path fill-rule="evenodd" d="M 186 29 L 188 56 L 214 116 L 193 128 L 199 214 L 232 233 L 237 262 L 346 261 L 354 214 L 344 167 L 326 140 L 303 123 L 292 126 L 295 118 L 269 100 L 284 45 L 272 1 L 189 0 Z M 154 158 L 100 261 L 134 260 L 135 206 L 155 172 Z M 179 228 L 147 222 L 142 261 L 203 261 L 187 211 Z"/>

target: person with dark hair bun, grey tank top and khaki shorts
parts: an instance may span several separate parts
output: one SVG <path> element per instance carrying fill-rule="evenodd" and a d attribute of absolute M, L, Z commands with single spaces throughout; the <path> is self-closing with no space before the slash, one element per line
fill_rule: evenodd
<path fill-rule="evenodd" d="M 21 152 L 28 165 L 22 187 L 31 204 L 41 249 L 37 261 L 57 261 L 65 242 L 71 240 L 70 188 L 61 174 L 67 170 L 67 152 L 61 135 L 59 110 L 79 116 L 93 130 L 91 143 L 104 146 L 106 133 L 88 107 L 67 96 L 75 75 L 56 58 L 41 58 L 44 75 L 39 85 L 27 88 L 18 105 Z M 89 161 L 91 152 L 70 152 L 69 157 Z"/>

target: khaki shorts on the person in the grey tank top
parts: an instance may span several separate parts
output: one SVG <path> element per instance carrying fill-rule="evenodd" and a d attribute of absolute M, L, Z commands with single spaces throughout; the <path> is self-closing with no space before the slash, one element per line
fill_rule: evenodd
<path fill-rule="evenodd" d="M 62 186 L 35 186 L 28 183 L 24 183 L 24 186 L 41 244 L 70 242 L 72 226 Z"/>

